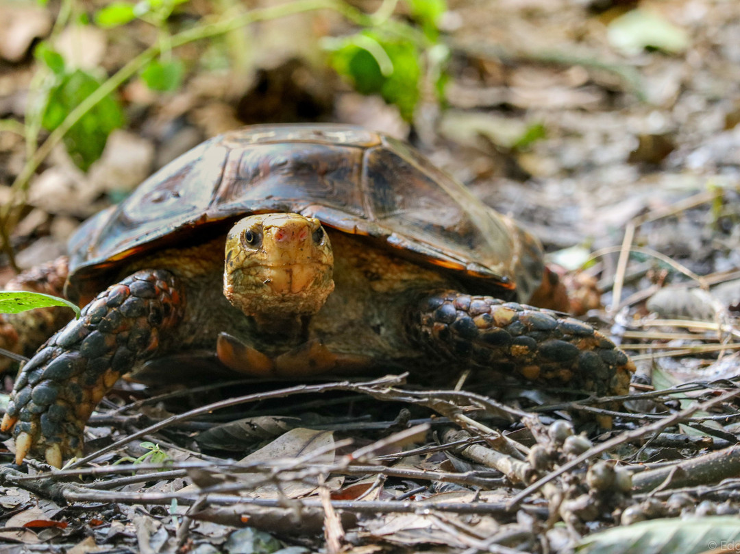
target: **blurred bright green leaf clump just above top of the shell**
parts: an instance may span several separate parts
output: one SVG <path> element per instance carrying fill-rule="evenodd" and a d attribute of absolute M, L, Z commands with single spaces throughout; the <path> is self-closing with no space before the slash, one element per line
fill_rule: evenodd
<path fill-rule="evenodd" d="M 371 44 L 377 44 L 383 56 Z M 419 56 L 411 41 L 386 39 L 380 33 L 366 31 L 340 41 L 334 47 L 331 63 L 358 92 L 380 94 L 388 104 L 399 108 L 404 119 L 411 121 L 419 101 Z"/>

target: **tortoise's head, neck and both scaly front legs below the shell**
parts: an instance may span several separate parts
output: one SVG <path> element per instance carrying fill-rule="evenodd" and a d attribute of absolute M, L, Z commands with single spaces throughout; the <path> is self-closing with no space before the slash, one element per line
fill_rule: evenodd
<path fill-rule="evenodd" d="M 16 461 L 30 454 L 61 466 L 81 451 L 84 424 L 118 376 L 155 353 L 216 347 L 203 341 L 216 342 L 221 331 L 240 333 L 222 336 L 217 352 L 230 367 L 249 366 L 245 373 L 361 372 L 391 362 L 428 376 L 451 359 L 540 385 L 627 392 L 633 364 L 588 325 L 469 296 L 446 273 L 339 232 L 334 271 L 320 229 L 296 214 L 249 216 L 225 241 L 163 250 L 129 266 L 172 271 L 141 269 L 113 285 L 23 368 L 1 424 L 13 430 Z M 222 271 L 226 298 L 217 289 Z M 420 344 L 437 356 L 420 354 Z"/>

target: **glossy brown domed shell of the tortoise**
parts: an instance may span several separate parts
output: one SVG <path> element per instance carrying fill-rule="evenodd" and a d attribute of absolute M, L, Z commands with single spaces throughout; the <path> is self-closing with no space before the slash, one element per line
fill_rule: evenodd
<path fill-rule="evenodd" d="M 539 244 L 408 144 L 339 124 L 255 125 L 163 167 L 70 241 L 67 293 L 97 293 L 132 256 L 252 213 L 294 212 L 528 298 Z"/>

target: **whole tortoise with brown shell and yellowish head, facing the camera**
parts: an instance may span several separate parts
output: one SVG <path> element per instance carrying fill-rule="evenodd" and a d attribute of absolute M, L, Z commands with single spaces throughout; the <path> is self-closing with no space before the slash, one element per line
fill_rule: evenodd
<path fill-rule="evenodd" d="M 16 378 L 1 429 L 19 464 L 79 455 L 119 376 L 168 353 L 299 379 L 472 368 L 602 396 L 626 393 L 634 370 L 590 325 L 528 305 L 559 290 L 531 233 L 362 127 L 209 139 L 84 222 L 68 256 L 21 278 L 64 282 L 84 308 Z M 32 334 L 8 330 L 20 317 L 0 327 L 16 350 Z"/>

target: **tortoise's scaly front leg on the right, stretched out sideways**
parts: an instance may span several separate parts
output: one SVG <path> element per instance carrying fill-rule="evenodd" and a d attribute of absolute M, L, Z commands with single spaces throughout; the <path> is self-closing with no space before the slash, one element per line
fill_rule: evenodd
<path fill-rule="evenodd" d="M 600 396 L 628 393 L 628 356 L 588 324 L 491 296 L 442 291 L 414 310 L 411 333 L 437 353 Z"/>

